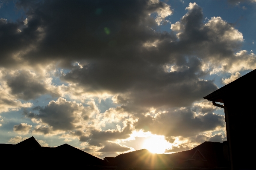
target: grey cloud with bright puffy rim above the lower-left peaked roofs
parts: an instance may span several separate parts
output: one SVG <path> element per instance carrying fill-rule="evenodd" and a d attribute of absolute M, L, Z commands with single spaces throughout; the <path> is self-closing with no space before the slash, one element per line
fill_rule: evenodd
<path fill-rule="evenodd" d="M 52 128 L 53 131 L 74 130 L 80 125 L 81 121 L 88 119 L 89 115 L 88 107 L 85 108 L 76 101 L 67 101 L 65 98 L 50 101 L 47 106 L 35 107 L 34 110 L 38 110 L 39 114 L 33 112 L 24 112 L 24 114 L 28 118 L 34 118 L 40 120 L 41 123 L 47 124 L 49 127 L 35 129 L 35 131 L 43 133 L 49 132 L 49 128 Z"/>

